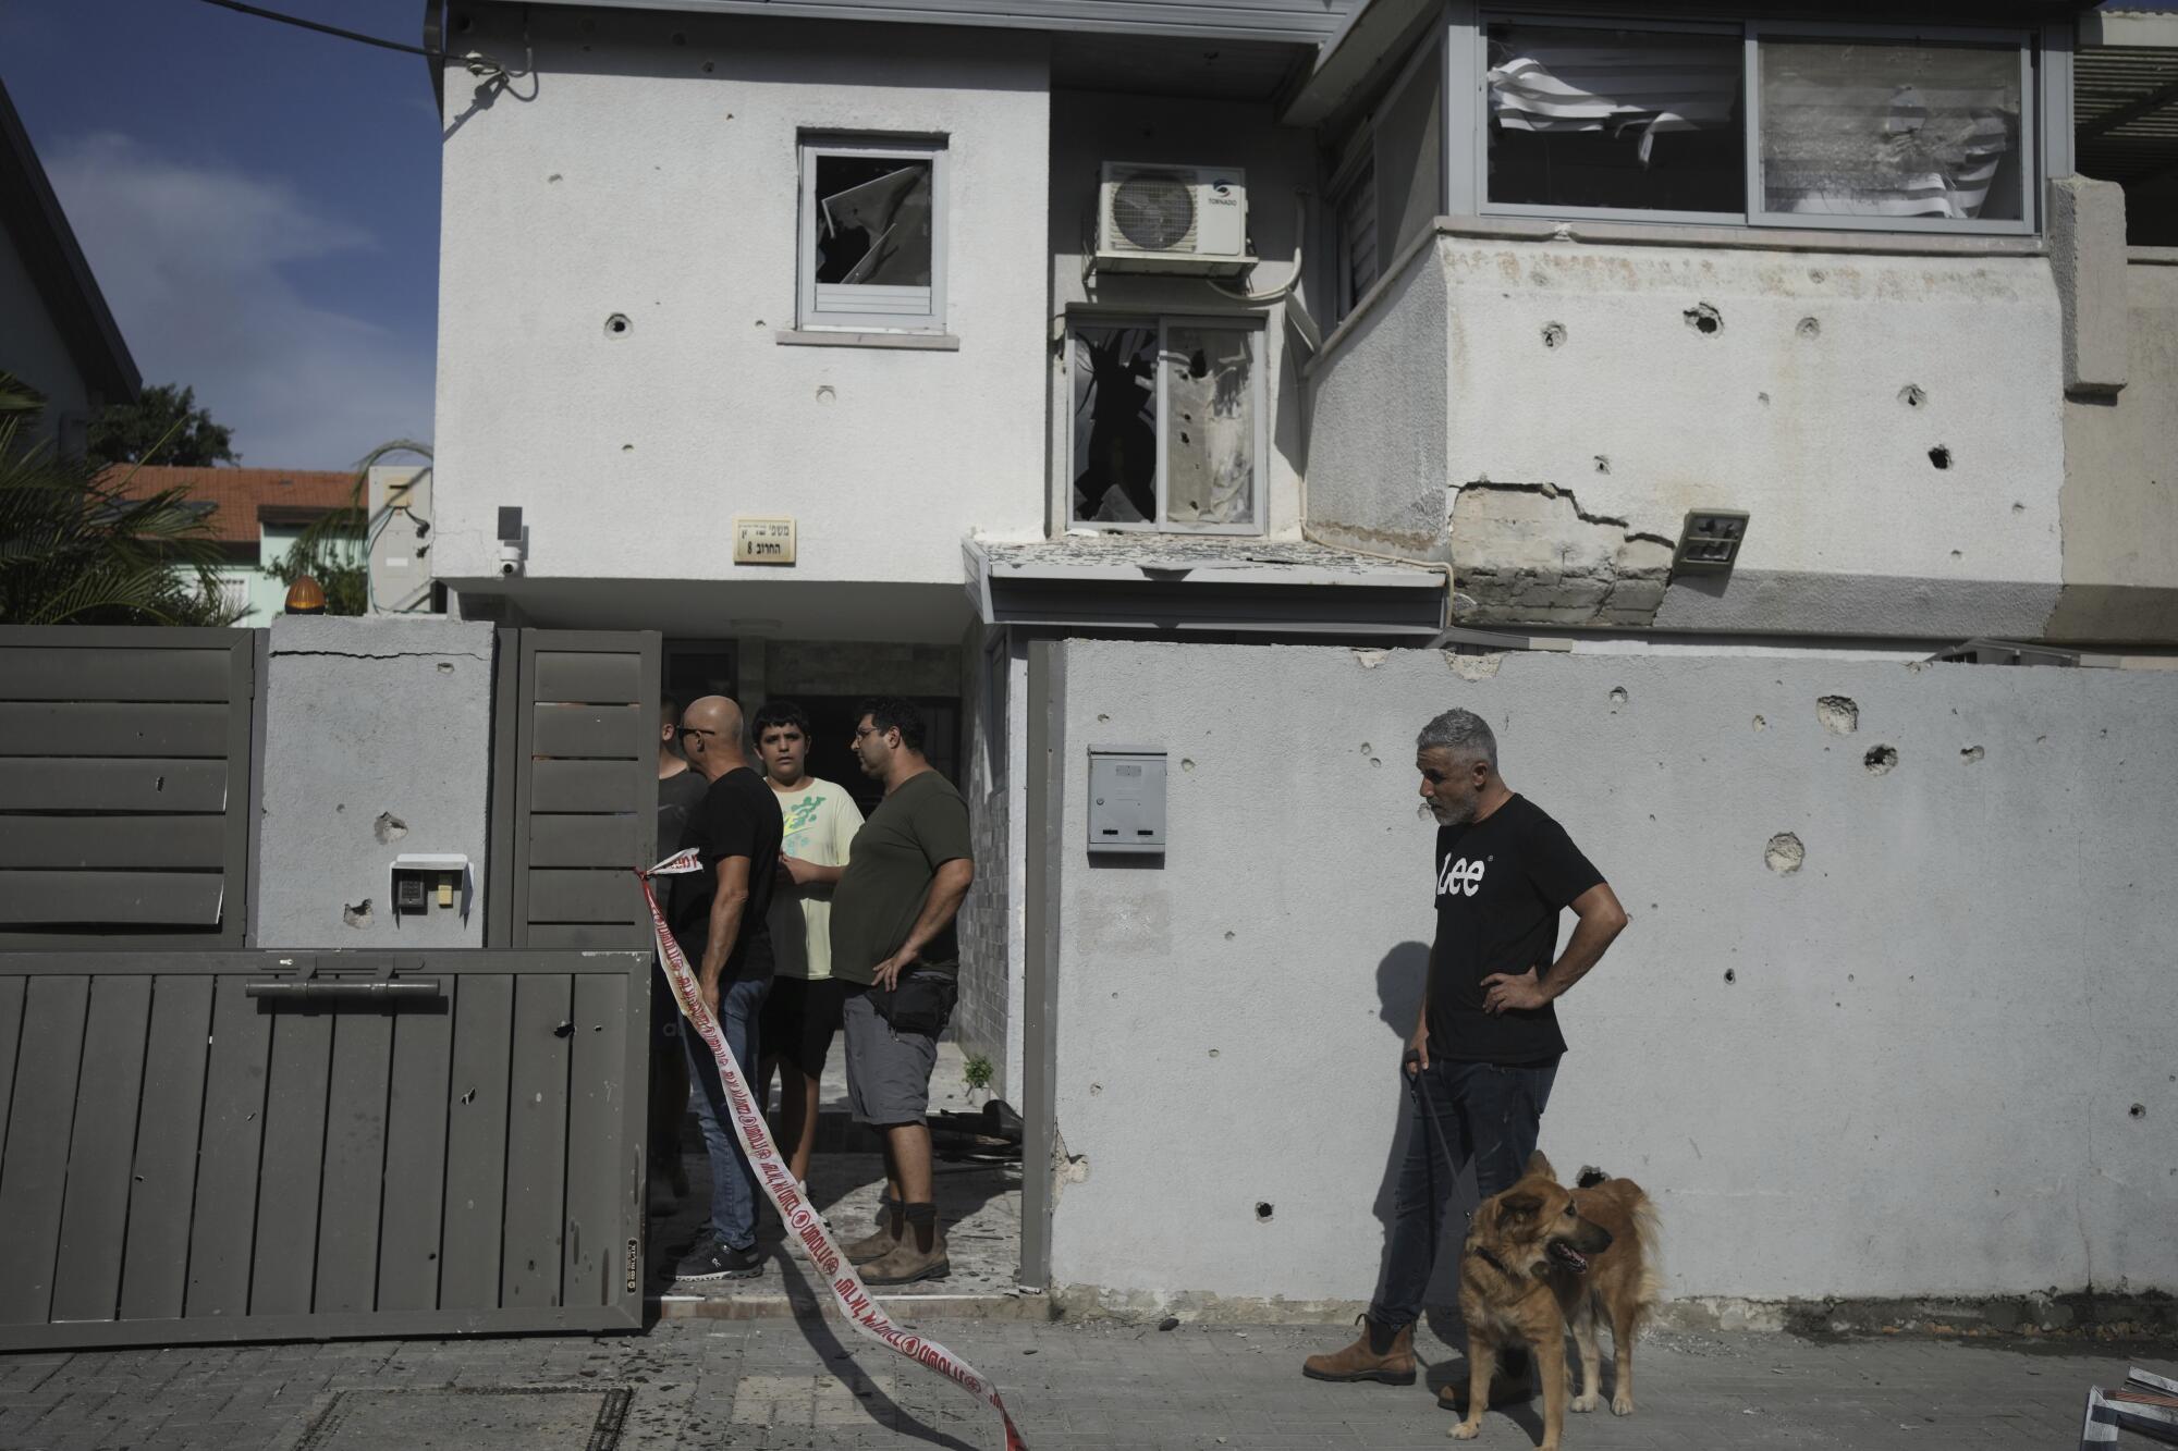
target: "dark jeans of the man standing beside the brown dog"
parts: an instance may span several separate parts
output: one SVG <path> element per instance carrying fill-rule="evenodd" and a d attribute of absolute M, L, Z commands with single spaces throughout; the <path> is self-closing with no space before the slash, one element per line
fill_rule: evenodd
<path fill-rule="evenodd" d="M 1557 1059 L 1516 1065 L 1433 1059 L 1407 1078 L 1407 1155 L 1392 1190 L 1392 1233 L 1370 1320 L 1398 1329 L 1422 1316 L 1459 1170 L 1475 1163 L 1479 1198 L 1509 1190 L 1535 1153 L 1553 1078 Z"/>

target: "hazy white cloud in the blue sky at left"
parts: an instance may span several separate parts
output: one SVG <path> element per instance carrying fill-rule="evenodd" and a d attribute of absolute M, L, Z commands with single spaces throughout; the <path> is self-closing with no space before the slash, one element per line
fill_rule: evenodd
<path fill-rule="evenodd" d="M 375 251 L 279 181 L 185 166 L 100 133 L 46 159 L 122 338 L 152 383 L 189 383 L 259 468 L 346 468 L 431 436 L 431 340 L 305 298 L 296 261 Z"/>

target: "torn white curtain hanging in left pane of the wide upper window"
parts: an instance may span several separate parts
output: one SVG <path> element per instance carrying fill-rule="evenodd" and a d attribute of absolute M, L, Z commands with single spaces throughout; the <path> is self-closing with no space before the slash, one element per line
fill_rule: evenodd
<path fill-rule="evenodd" d="M 1740 57 L 1716 46 L 1522 44 L 1492 65 L 1490 111 L 1507 131 L 1640 131 L 1640 161 L 1660 131 L 1729 126 Z"/>

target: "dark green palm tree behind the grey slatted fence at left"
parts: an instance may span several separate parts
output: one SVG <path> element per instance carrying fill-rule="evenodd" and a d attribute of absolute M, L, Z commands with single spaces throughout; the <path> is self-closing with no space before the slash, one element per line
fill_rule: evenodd
<path fill-rule="evenodd" d="M 26 418 L 0 410 L 0 623 L 233 623 L 211 521 L 185 490 L 131 499 L 135 471 L 22 444 Z"/>

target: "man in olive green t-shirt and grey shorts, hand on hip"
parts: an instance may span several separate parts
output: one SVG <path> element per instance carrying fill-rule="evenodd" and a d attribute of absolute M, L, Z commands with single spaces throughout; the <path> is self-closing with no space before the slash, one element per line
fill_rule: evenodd
<path fill-rule="evenodd" d="M 862 773 L 884 800 L 854 837 L 832 889 L 832 974 L 849 983 L 847 1098 L 858 1124 L 884 1133 L 878 1233 L 847 1246 L 862 1283 L 945 1279 L 945 1235 L 930 1198 L 930 1070 L 954 1007 L 960 946 L 954 915 L 976 880 L 967 802 L 923 758 L 923 715 L 904 699 L 862 706 L 854 730 Z"/>

